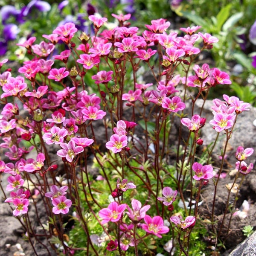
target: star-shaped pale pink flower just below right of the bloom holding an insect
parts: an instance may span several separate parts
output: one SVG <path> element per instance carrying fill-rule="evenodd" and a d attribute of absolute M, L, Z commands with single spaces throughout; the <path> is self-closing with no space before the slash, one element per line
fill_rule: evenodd
<path fill-rule="evenodd" d="M 70 163 L 76 155 L 84 151 L 84 148 L 82 146 L 76 146 L 73 140 L 70 140 L 69 143 L 61 143 L 60 146 L 63 149 L 58 150 L 57 155 L 66 158 Z"/>

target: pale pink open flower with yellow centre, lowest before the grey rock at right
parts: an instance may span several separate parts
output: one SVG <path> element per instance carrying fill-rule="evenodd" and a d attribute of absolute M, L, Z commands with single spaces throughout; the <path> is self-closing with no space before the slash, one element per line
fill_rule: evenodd
<path fill-rule="evenodd" d="M 215 113 L 209 123 L 213 125 L 215 131 L 221 132 L 231 128 L 234 125 L 235 118 L 236 116 L 233 114 Z"/>

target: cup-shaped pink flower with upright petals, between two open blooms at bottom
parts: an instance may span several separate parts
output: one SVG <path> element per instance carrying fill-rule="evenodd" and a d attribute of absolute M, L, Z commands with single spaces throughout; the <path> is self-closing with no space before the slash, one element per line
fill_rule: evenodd
<path fill-rule="evenodd" d="M 145 217 L 146 212 L 150 208 L 150 205 L 147 204 L 142 207 L 142 204 L 140 201 L 138 201 L 137 199 L 132 199 L 131 207 L 132 209 L 129 206 L 127 206 L 128 212 L 126 212 L 126 214 L 128 215 L 131 221 L 139 222 Z"/>

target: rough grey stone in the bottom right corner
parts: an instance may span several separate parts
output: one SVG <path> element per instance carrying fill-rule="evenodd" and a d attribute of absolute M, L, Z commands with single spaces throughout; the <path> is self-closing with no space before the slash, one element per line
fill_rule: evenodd
<path fill-rule="evenodd" d="M 239 244 L 229 256 L 255 256 L 256 255 L 256 232 Z"/>

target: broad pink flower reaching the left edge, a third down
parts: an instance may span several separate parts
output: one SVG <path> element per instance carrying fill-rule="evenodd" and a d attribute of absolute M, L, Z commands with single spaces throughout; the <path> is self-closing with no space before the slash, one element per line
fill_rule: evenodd
<path fill-rule="evenodd" d="M 1 99 L 7 96 L 17 96 L 18 93 L 25 90 L 27 84 L 24 81 L 22 76 L 15 77 L 8 77 L 6 84 L 3 84 L 3 91 L 4 93 L 1 94 Z"/>

